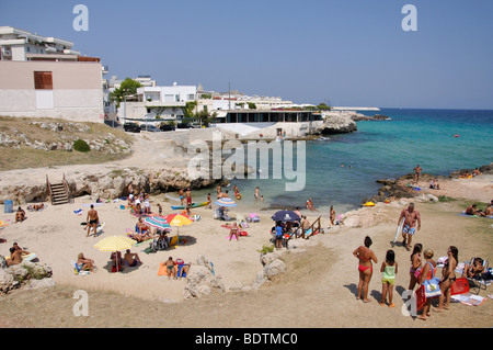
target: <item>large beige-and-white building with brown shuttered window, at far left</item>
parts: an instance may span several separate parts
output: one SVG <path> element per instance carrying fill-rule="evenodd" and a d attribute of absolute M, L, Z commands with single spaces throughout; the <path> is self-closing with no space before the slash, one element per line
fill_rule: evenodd
<path fill-rule="evenodd" d="M 73 43 L 0 26 L 0 115 L 103 122 L 103 67 Z"/>

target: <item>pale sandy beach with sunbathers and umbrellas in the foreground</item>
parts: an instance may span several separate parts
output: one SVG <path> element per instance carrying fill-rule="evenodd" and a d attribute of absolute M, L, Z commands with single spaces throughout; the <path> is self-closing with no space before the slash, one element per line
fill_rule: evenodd
<path fill-rule="evenodd" d="M 131 158 L 128 160 L 131 162 Z M 489 202 L 493 199 L 493 176 L 482 174 L 469 180 L 451 179 L 440 182 L 442 190 L 423 190 L 435 195 L 446 195 L 456 201 L 417 203 L 423 227 L 413 242 L 435 251 L 435 258 L 446 255 L 454 245 L 459 248 L 459 260 L 466 261 L 480 256 L 493 259 L 491 236 L 493 219 L 472 218 L 458 215 L 473 202 Z M 426 188 L 426 183 L 420 183 Z M 169 196 L 151 197 L 151 205 L 160 203 L 164 214 L 172 213 Z M 205 199 L 194 199 L 202 202 Z M 32 291 L 12 291 L 0 297 L 0 325 L 4 327 L 146 327 L 142 319 L 152 327 L 169 327 L 167 319 L 173 319 L 173 327 L 491 327 L 493 302 L 481 291 L 485 301 L 480 306 L 452 304 L 443 314 L 432 312 L 427 321 L 402 315 L 404 304 L 401 294 L 409 284 L 410 252 L 398 242 L 393 247 L 399 273 L 395 280 L 394 303 L 389 309 L 379 305 L 381 283 L 380 263 L 395 232 L 397 219 L 405 202 L 378 203 L 359 212 L 368 213 L 378 224 L 368 227 L 328 228 L 329 213 L 302 210 L 312 222 L 322 216 L 325 234 L 316 235 L 297 249 L 282 249 L 280 259 L 287 271 L 265 283 L 257 291 L 251 291 L 256 274 L 263 269 L 259 249 L 271 238 L 273 212 L 255 211 L 241 205 L 230 208 L 236 214 L 255 212 L 261 222 L 251 223 L 246 237 L 239 241 L 229 240 L 223 222 L 213 218 L 213 211 L 205 207 L 193 210 L 202 219 L 180 227 L 180 237 L 185 240 L 173 249 L 146 253 L 148 244 L 133 247 L 142 264 L 126 268 L 121 273 L 111 273 L 110 253 L 101 252 L 94 245 L 112 235 L 125 235 L 133 229 L 137 217 L 128 210 L 122 210 L 125 202 L 101 203 L 95 206 L 101 222 L 105 223 L 98 237 L 85 237 L 84 226 L 90 196 L 77 197 L 74 203 L 48 206 L 41 212 L 27 212 L 27 219 L 14 223 L 14 213 L 0 213 L 0 221 L 9 224 L 0 232 L 8 241 L 0 245 L 0 253 L 9 256 L 9 248 L 16 241 L 31 252 L 36 252 L 39 262 L 53 268 L 56 286 Z M 217 205 L 214 205 L 217 207 Z M 82 215 L 74 211 L 82 210 Z M 342 214 L 342 213 L 337 213 Z M 173 228 L 176 230 L 176 228 Z M 358 283 L 357 260 L 352 252 L 363 245 L 365 236 L 374 240 L 371 249 L 379 263 L 374 266 L 369 297 L 371 303 L 356 301 Z M 99 270 L 81 276 L 73 273 L 70 260 L 79 252 L 93 259 Z M 216 274 L 221 276 L 226 293 L 202 298 L 183 300 L 186 280 L 169 280 L 158 276 L 160 262 L 168 257 L 193 262 L 205 256 L 214 262 Z M 194 267 L 192 266 L 192 269 Z M 84 290 L 90 295 L 90 317 L 74 317 L 72 314 L 73 292 Z M 131 301 L 131 303 L 128 303 Z M 33 303 L 37 302 L 37 303 Z M 42 303 L 38 303 L 42 302 Z M 111 303 L 108 307 L 107 303 Z M 41 306 L 35 305 L 44 305 Z M 119 308 L 119 306 L 125 307 Z M 15 312 L 12 314 L 13 309 Z M 53 313 L 47 312 L 53 311 Z M 163 317 L 163 314 L 167 316 Z M 12 316 L 14 315 L 14 316 Z M 35 315 L 36 320 L 33 320 Z M 233 318 L 230 315 L 236 315 Z M 131 317 L 130 317 L 131 316 Z M 330 316 L 330 317 L 329 317 Z"/>

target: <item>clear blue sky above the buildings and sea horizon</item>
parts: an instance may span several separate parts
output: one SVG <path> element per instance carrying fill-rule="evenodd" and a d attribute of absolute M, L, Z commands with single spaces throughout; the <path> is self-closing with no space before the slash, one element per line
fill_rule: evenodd
<path fill-rule="evenodd" d="M 76 32 L 76 4 L 89 31 Z M 404 4 L 417 32 L 404 32 Z M 296 103 L 493 109 L 491 0 L 1 1 L 0 25 L 73 42 L 110 75 Z"/>

